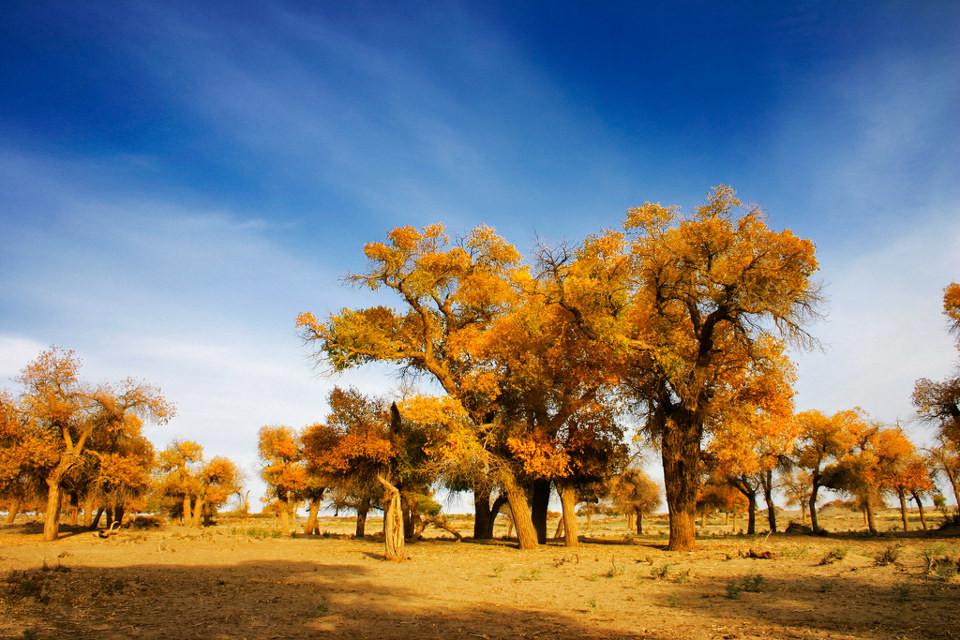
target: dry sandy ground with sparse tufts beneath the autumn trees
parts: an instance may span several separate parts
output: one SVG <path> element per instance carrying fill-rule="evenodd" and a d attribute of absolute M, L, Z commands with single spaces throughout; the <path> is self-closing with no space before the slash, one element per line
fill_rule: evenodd
<path fill-rule="evenodd" d="M 631 537 L 595 519 L 579 549 L 434 538 L 402 563 L 375 538 L 341 537 L 349 519 L 325 519 L 318 537 L 273 537 L 251 519 L 50 544 L 35 525 L 5 527 L 0 637 L 960 637 L 960 578 L 924 560 L 960 555 L 960 538 L 717 536 L 678 554 L 663 548 L 663 521 L 651 524 Z M 896 561 L 878 565 L 890 548 Z M 843 557 L 821 564 L 830 552 Z"/>

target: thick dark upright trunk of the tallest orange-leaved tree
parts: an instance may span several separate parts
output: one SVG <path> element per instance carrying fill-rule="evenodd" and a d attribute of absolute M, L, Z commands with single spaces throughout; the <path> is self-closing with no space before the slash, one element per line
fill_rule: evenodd
<path fill-rule="evenodd" d="M 670 514 L 670 551 L 689 551 L 696 546 L 698 465 L 700 430 L 675 421 L 661 436 L 663 478 Z"/>

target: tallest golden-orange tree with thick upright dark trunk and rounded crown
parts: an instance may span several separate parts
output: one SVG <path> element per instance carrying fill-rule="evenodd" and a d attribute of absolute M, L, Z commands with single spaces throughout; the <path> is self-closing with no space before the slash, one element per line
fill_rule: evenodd
<path fill-rule="evenodd" d="M 662 456 L 669 548 L 690 549 L 705 437 L 724 407 L 757 393 L 745 381 L 781 367 L 782 341 L 810 341 L 813 243 L 718 187 L 692 215 L 631 209 L 623 232 L 553 266 L 558 304 L 623 353 L 623 388 Z"/>

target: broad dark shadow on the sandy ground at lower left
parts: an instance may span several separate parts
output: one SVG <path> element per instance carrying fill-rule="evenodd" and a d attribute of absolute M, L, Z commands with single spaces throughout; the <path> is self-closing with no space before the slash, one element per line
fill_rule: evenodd
<path fill-rule="evenodd" d="M 426 603 L 363 565 L 52 567 L 0 583 L 9 638 L 640 638 L 572 616 Z"/>

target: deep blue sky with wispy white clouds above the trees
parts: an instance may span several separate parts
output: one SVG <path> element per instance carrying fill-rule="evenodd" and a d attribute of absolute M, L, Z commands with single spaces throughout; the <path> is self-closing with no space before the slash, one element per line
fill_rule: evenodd
<path fill-rule="evenodd" d="M 163 387 L 160 445 L 252 477 L 262 424 L 325 413 L 293 320 L 373 300 L 340 282 L 364 242 L 486 223 L 529 250 L 718 183 L 818 246 L 800 408 L 909 422 L 954 366 L 956 3 L 199 4 L 5 5 L 0 384 L 73 347 Z"/>

